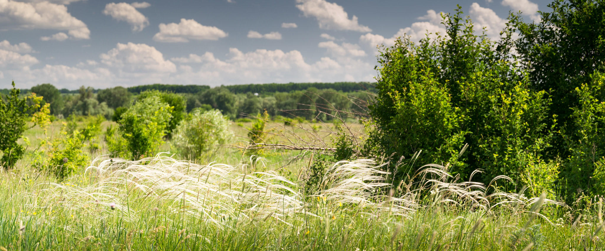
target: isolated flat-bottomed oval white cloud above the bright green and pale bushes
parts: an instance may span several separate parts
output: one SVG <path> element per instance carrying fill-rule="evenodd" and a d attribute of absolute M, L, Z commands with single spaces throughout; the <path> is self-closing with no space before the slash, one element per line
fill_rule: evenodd
<path fill-rule="evenodd" d="M 181 19 L 178 24 L 160 24 L 160 32 L 153 36 L 157 42 L 189 42 L 194 40 L 218 40 L 228 34 L 217 27 L 201 25 L 194 19 Z"/>

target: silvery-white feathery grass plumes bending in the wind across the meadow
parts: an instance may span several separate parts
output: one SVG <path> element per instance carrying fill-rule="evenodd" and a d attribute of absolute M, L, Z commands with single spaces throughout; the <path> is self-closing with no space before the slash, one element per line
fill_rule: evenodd
<path fill-rule="evenodd" d="M 328 168 L 321 189 L 312 196 L 332 208 L 345 205 L 373 216 L 388 212 L 404 217 L 437 204 L 489 211 L 505 203 L 525 207 L 538 202 L 537 198 L 524 200 L 519 194 L 499 191 L 491 183 L 457 182 L 440 165 L 419 168 L 406 183 L 394 188 L 385 182 L 390 173 L 380 167 L 371 159 L 337 162 Z M 242 169 L 198 165 L 163 154 L 136 161 L 100 156 L 82 176 L 71 178 L 82 183 L 39 183 L 43 189 L 38 194 L 24 196 L 35 197 L 28 208 L 61 208 L 105 217 L 119 214 L 126 221 L 149 214 L 186 214 L 221 228 L 229 227 L 226 219 L 254 223 L 274 218 L 291 225 L 304 217 L 318 217 L 312 213 L 315 204 L 306 202 L 297 183 L 274 171 L 246 173 Z M 497 179 L 509 180 L 505 176 Z M 426 203 L 426 198 L 433 203 Z"/>

